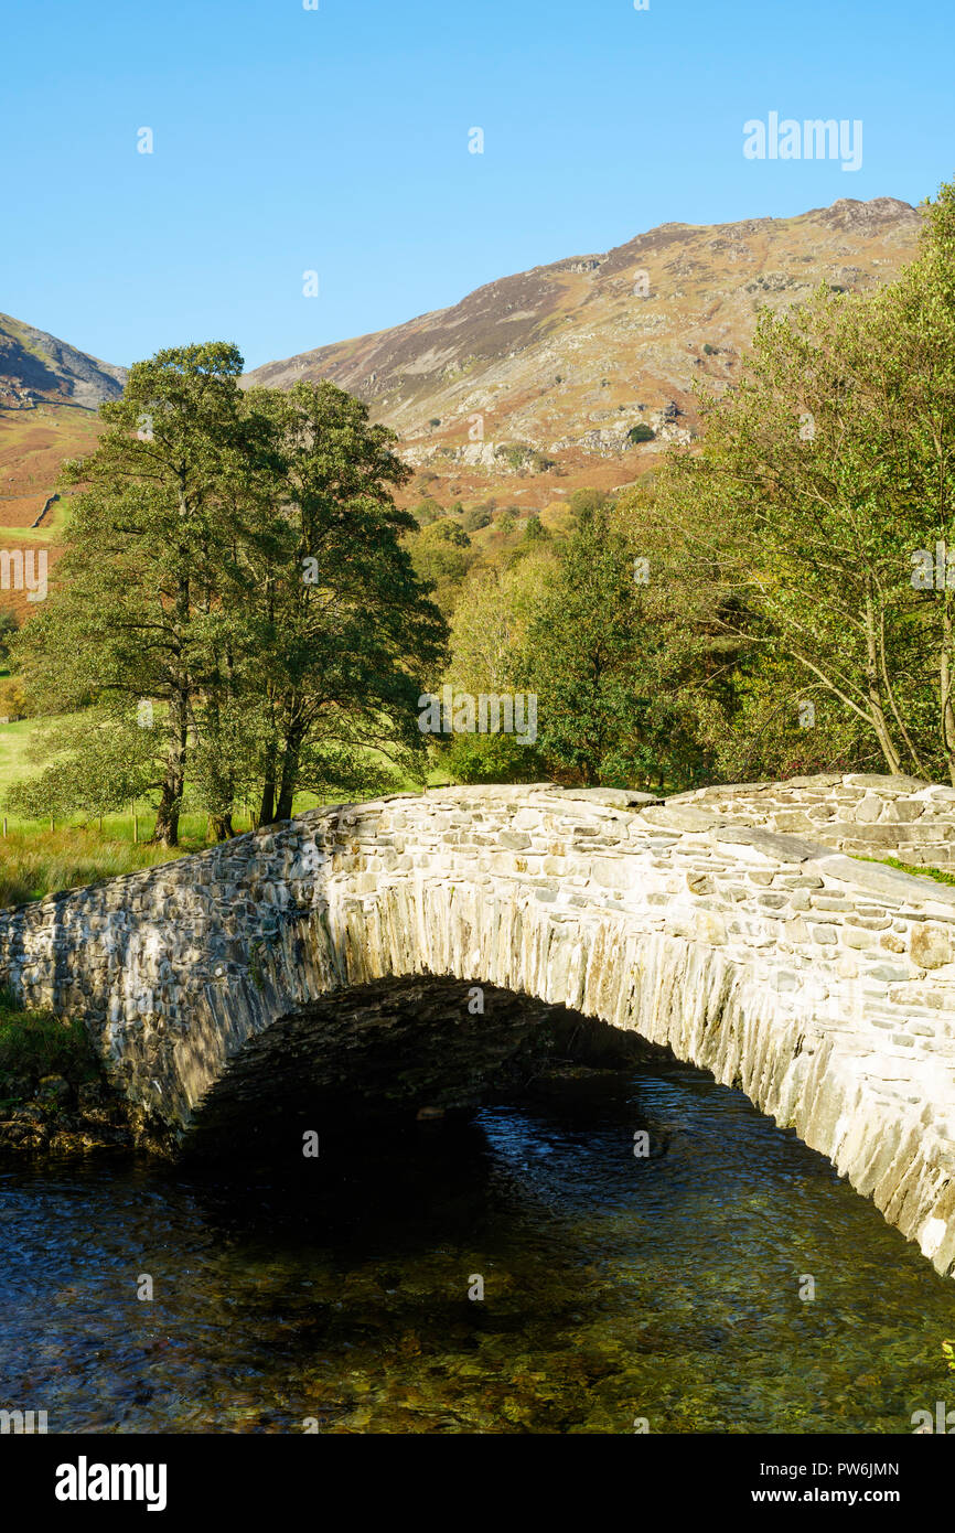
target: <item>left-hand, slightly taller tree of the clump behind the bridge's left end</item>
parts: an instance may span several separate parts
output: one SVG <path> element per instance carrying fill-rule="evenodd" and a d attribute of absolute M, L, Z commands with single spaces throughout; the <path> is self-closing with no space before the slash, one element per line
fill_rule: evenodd
<path fill-rule="evenodd" d="M 225 343 L 161 351 L 101 405 L 94 454 L 66 466 L 69 549 L 15 658 L 49 711 L 158 699 L 155 840 L 178 843 L 193 704 L 210 681 L 224 515 L 247 475 L 239 376 Z M 95 737 L 90 736 L 90 742 Z M 92 748 L 92 745 L 90 745 Z"/>

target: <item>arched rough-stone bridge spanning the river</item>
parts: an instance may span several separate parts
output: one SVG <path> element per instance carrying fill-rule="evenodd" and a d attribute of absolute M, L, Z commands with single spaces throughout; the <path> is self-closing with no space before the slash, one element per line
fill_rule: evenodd
<path fill-rule="evenodd" d="M 0 984 L 178 1144 L 256 1070 L 346 1090 L 385 1029 L 414 1105 L 569 1007 L 740 1087 L 955 1274 L 955 888 L 860 860 L 953 845 L 911 779 L 392 796 L 3 911 Z"/>

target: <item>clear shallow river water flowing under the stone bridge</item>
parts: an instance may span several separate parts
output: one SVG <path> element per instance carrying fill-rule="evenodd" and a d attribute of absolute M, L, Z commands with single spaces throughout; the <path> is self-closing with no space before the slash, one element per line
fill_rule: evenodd
<path fill-rule="evenodd" d="M 684 1065 L 231 1174 L 0 1167 L 0 1407 L 51 1432 L 909 1433 L 955 1404 L 955 1283 Z"/>

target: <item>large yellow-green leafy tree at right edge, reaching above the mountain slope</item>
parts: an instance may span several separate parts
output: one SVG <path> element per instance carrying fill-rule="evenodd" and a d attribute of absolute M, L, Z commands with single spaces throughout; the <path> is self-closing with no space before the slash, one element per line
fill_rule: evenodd
<path fill-rule="evenodd" d="M 704 417 L 702 457 L 674 454 L 658 489 L 717 572 L 724 632 L 785 656 L 888 771 L 955 782 L 953 598 L 912 584 L 955 532 L 953 190 L 892 287 L 763 311 L 740 386 Z"/>

